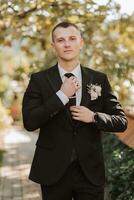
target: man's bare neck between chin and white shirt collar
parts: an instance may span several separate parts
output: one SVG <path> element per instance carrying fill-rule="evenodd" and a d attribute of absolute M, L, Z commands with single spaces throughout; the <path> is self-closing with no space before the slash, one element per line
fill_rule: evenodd
<path fill-rule="evenodd" d="M 60 60 L 59 59 L 58 63 L 67 72 L 71 72 L 77 67 L 78 64 L 80 64 L 80 61 L 79 60 L 66 61 L 66 60 Z"/>

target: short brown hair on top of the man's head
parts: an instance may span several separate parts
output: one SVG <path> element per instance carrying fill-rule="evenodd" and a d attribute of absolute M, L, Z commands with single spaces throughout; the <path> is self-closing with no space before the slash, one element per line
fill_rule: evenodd
<path fill-rule="evenodd" d="M 71 22 L 61 22 L 61 23 L 57 24 L 56 26 L 54 26 L 54 28 L 52 29 L 52 41 L 54 41 L 54 34 L 53 33 L 54 33 L 55 29 L 57 29 L 58 27 L 68 28 L 69 26 L 73 26 L 74 28 L 76 28 L 80 32 L 77 25 L 75 25 Z"/>

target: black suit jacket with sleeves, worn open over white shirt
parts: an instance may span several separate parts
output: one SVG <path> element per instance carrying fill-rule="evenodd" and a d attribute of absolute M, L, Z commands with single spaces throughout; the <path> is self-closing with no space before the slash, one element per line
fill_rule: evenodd
<path fill-rule="evenodd" d="M 73 145 L 86 177 L 94 184 L 105 182 L 101 133 L 121 132 L 127 120 L 111 91 L 105 74 L 89 68 L 82 70 L 81 105 L 97 113 L 95 123 L 78 121 L 73 125 L 66 106 L 56 92 L 62 84 L 57 65 L 32 74 L 23 98 L 23 122 L 28 131 L 40 129 L 31 167 L 30 179 L 53 184 L 70 164 Z M 101 96 L 91 100 L 87 84 L 101 86 Z"/>

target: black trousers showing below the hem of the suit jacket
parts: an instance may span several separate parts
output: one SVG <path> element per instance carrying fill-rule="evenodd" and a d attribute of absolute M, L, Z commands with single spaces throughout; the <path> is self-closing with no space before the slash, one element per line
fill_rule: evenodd
<path fill-rule="evenodd" d="M 72 162 L 57 183 L 41 185 L 41 191 L 43 200 L 104 200 L 104 186 L 92 184 L 78 161 Z"/>

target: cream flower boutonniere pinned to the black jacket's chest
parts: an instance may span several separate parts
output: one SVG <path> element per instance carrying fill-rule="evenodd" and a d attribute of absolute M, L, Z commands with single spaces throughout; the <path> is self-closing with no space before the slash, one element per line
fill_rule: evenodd
<path fill-rule="evenodd" d="M 87 84 L 87 92 L 90 94 L 91 100 L 95 100 L 101 96 L 101 89 L 101 86 L 98 84 Z"/>

